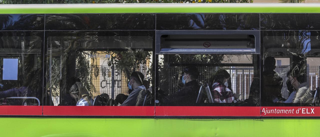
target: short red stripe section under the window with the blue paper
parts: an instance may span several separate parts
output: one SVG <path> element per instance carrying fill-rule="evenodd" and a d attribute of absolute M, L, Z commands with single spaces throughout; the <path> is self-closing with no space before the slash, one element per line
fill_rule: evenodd
<path fill-rule="evenodd" d="M 0 106 L 0 115 L 42 115 L 42 106 Z"/>

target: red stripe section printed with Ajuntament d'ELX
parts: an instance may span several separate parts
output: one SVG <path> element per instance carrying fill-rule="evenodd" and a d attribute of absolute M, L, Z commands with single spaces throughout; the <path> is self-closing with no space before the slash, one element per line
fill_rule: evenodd
<path fill-rule="evenodd" d="M 261 107 L 262 117 L 320 117 L 319 107 Z"/>

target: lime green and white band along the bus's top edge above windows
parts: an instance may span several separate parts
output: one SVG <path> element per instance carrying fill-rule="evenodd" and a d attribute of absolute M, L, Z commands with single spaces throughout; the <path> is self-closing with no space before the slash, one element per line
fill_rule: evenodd
<path fill-rule="evenodd" d="M 0 5 L 13 13 L 320 13 L 320 4 L 38 4 Z"/>

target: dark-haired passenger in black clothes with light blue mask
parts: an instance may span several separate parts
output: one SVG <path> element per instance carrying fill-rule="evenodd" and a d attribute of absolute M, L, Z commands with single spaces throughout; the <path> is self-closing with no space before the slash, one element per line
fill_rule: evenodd
<path fill-rule="evenodd" d="M 184 68 L 182 76 L 183 87 L 169 96 L 163 97 L 160 102 L 165 105 L 190 106 L 196 104 L 196 99 L 200 89 L 197 82 L 199 71 L 196 67 Z"/>

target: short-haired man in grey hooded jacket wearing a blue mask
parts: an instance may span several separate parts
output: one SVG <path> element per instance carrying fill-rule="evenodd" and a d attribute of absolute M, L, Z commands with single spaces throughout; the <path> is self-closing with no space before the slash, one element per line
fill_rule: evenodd
<path fill-rule="evenodd" d="M 146 96 L 146 87 L 143 85 L 144 76 L 141 72 L 132 72 L 128 83 L 128 88 L 132 90 L 128 98 L 121 106 L 142 106 Z"/>

